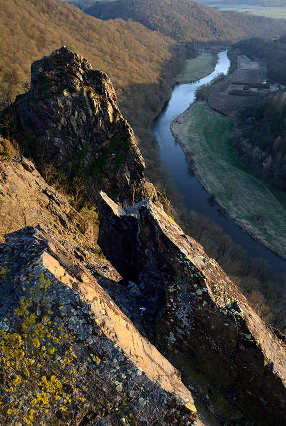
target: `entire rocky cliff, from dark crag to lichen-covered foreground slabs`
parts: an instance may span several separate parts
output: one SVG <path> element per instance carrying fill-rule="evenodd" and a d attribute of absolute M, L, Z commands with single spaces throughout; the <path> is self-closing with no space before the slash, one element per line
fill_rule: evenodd
<path fill-rule="evenodd" d="M 284 426 L 283 342 L 142 200 L 156 194 L 108 78 L 62 48 L 1 118 L 39 166 L 81 179 L 106 259 L 94 209 L 22 155 L 0 161 L 0 424 Z"/>

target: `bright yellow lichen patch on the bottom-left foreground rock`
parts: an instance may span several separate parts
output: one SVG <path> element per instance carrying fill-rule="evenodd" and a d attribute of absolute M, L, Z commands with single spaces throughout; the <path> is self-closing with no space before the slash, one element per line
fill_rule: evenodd
<path fill-rule="evenodd" d="M 20 279 L 25 282 L 24 275 Z M 38 284 L 30 288 L 30 297 L 22 297 L 18 308 L 14 311 L 20 322 L 17 332 L 0 329 L 0 360 L 2 361 L 0 369 L 5 370 L 8 383 L 4 385 L 3 395 L 9 392 L 15 400 L 13 404 L 15 408 L 7 409 L 6 415 L 20 415 L 19 423 L 22 422 L 28 426 L 34 425 L 37 414 L 49 413 L 53 400 L 55 403 L 60 398 L 64 398 L 60 406 L 63 412 L 68 410 L 72 401 L 85 400 L 77 388 L 81 372 L 74 364 L 77 359 L 73 350 L 75 339 L 64 322 L 58 324 L 50 318 L 50 315 L 59 309 L 55 303 L 47 302 L 45 292 L 50 285 L 50 280 L 46 280 L 44 274 L 41 274 Z M 65 305 L 65 303 L 61 304 L 61 306 Z M 93 359 L 100 362 L 98 357 Z M 43 374 L 44 371 L 53 371 L 55 374 L 48 376 Z M 29 383 L 32 384 L 35 393 L 31 392 L 29 395 L 27 400 L 29 405 L 26 405 L 25 411 L 24 406 L 20 409 L 16 408 L 19 404 L 17 396 L 20 389 L 29 388 Z M 72 385 L 73 390 L 69 394 L 63 388 L 65 383 Z M 5 400 L 0 401 L 0 404 L 7 407 Z"/>

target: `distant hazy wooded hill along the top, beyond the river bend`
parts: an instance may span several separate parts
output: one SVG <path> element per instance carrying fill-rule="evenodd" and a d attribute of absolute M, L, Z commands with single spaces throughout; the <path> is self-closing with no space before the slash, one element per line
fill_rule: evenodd
<path fill-rule="evenodd" d="M 96 3 L 84 11 L 104 20 L 132 19 L 180 42 L 234 42 L 253 35 L 282 35 L 286 31 L 282 21 L 220 12 L 187 0 L 116 0 Z"/>

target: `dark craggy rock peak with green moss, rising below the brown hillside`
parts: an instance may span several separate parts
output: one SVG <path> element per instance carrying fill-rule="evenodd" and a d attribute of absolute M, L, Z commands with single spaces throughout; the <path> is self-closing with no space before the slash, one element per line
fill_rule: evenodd
<path fill-rule="evenodd" d="M 144 160 L 116 103 L 112 83 L 62 47 L 32 64 L 31 89 L 4 112 L 10 135 L 37 166 L 82 179 L 90 201 L 105 190 L 121 205 L 156 197 Z"/>

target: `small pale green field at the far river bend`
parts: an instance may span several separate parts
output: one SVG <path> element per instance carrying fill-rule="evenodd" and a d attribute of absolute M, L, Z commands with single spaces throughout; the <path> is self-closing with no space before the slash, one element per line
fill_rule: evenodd
<path fill-rule="evenodd" d="M 213 69 L 213 56 L 204 53 L 194 59 L 187 59 L 184 70 L 176 77 L 174 83 L 192 83 L 209 75 Z"/>

